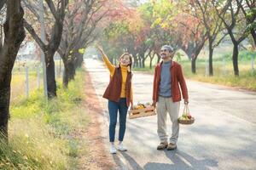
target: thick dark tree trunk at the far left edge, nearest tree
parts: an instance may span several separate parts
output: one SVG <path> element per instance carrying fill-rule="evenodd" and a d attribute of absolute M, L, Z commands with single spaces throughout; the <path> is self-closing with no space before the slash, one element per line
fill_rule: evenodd
<path fill-rule="evenodd" d="M 20 0 L 7 2 L 6 21 L 4 23 L 4 42 L 0 49 L 0 133 L 8 139 L 9 99 L 11 71 L 26 33 L 23 27 L 23 8 Z"/>

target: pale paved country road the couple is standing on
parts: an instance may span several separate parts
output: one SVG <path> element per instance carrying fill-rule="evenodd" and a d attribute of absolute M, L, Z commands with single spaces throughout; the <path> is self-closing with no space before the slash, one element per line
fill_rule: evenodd
<path fill-rule="evenodd" d="M 108 107 L 102 94 L 109 73 L 96 59 L 85 59 L 85 67 L 105 108 L 102 135 L 108 146 Z M 134 72 L 135 104 L 151 102 L 152 82 L 152 75 Z M 256 169 L 256 93 L 202 82 L 187 81 L 187 86 L 195 123 L 180 126 L 177 150 L 156 150 L 156 116 L 127 119 L 124 144 L 128 151 L 113 155 L 119 169 Z M 168 127 L 170 131 L 169 119 Z"/>

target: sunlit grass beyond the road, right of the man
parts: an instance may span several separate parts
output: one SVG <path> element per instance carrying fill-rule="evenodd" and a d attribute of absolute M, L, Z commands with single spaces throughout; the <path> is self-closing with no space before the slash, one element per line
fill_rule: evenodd
<path fill-rule="evenodd" d="M 185 76 L 189 79 L 256 91 L 256 71 L 253 71 L 251 67 L 251 55 L 256 54 L 241 52 L 238 60 L 239 77 L 234 75 L 230 54 L 224 54 L 222 58 L 213 59 L 213 77 L 208 76 L 207 60 L 197 60 L 196 74 L 191 72 L 191 64 L 188 60 L 182 60 L 181 64 Z"/>

